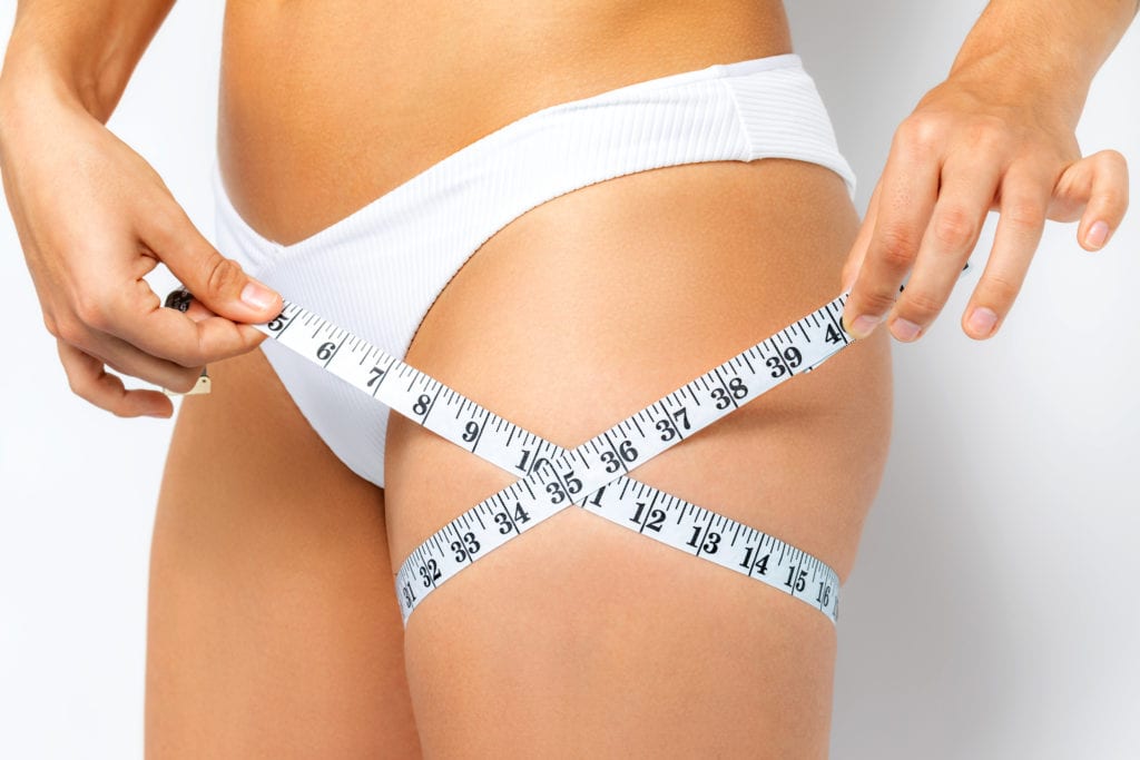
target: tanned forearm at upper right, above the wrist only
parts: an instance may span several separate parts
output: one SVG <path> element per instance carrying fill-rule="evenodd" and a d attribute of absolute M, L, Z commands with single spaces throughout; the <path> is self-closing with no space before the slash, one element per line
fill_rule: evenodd
<path fill-rule="evenodd" d="M 980 76 L 996 93 L 1044 96 L 1075 126 L 1089 84 L 1140 0 L 992 0 L 951 76 Z"/>

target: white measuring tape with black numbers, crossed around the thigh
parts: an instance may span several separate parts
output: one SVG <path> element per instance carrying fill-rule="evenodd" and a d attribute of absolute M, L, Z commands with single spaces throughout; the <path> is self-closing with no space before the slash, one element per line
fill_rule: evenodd
<path fill-rule="evenodd" d="M 821 559 L 626 473 L 853 343 L 841 318 L 847 295 L 573 450 L 503 419 L 288 301 L 276 318 L 254 327 L 412 422 L 521 475 L 408 555 L 396 577 L 405 624 L 412 611 L 445 581 L 570 506 L 766 583 L 836 622 L 839 578 Z"/>

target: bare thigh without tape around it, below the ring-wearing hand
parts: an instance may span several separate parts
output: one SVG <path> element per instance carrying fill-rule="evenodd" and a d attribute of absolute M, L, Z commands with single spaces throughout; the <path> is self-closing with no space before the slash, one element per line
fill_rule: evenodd
<path fill-rule="evenodd" d="M 181 402 L 150 553 L 156 758 L 420 757 L 383 491 L 324 446 L 261 351 Z"/>

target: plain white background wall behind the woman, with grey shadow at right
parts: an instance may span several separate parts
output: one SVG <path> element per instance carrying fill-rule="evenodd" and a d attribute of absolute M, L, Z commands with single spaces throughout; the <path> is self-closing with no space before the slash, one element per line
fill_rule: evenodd
<path fill-rule="evenodd" d="M 5 38 L 14 5 L 0 8 Z M 984 3 L 792 5 L 862 209 L 894 128 Z M 207 237 L 221 11 L 177 3 L 109 123 Z M 1133 28 L 1078 137 L 1086 153 L 1122 150 L 1140 188 L 1138 73 Z M 996 338 L 958 327 L 974 279 L 929 335 L 896 346 L 890 464 L 844 589 L 833 757 L 1135 757 L 1137 213 L 1098 254 L 1050 224 Z M 172 424 L 70 393 L 7 213 L 0 299 L 0 757 L 139 757 L 147 551 Z"/>

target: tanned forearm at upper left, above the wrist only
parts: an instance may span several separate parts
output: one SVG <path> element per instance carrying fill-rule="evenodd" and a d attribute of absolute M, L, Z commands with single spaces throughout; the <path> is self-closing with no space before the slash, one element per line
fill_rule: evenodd
<path fill-rule="evenodd" d="M 0 99 L 47 87 L 111 117 L 174 0 L 21 0 L 0 71 Z M 5 104 L 7 105 L 7 104 Z"/>

